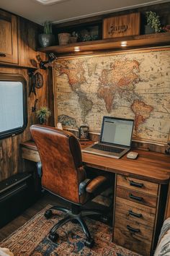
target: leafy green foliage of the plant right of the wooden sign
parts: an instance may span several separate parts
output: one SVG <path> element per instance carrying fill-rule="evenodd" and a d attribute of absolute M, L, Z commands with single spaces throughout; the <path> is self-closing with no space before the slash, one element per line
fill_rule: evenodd
<path fill-rule="evenodd" d="M 155 33 L 158 33 L 161 31 L 161 22 L 156 12 L 151 12 L 151 11 L 146 12 L 146 21 L 147 21 L 147 25 L 150 25 L 155 31 Z"/>

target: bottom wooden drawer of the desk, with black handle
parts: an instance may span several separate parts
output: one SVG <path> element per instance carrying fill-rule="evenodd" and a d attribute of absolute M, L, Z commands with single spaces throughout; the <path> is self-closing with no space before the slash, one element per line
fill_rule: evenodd
<path fill-rule="evenodd" d="M 149 226 L 137 225 L 133 221 L 127 221 L 123 218 L 115 218 L 113 241 L 122 247 L 148 256 L 151 251 L 152 236 L 153 229 Z"/>

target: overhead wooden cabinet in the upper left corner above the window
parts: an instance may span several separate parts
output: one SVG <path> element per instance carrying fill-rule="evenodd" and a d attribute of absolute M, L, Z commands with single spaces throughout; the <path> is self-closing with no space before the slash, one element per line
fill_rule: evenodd
<path fill-rule="evenodd" d="M 40 58 L 47 59 L 37 51 L 39 30 L 40 25 L 0 10 L 0 64 L 37 69 Z"/>

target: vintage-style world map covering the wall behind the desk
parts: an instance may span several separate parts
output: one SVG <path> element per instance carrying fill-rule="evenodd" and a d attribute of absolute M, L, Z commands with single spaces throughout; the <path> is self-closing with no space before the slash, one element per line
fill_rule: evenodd
<path fill-rule="evenodd" d="M 100 132 L 103 116 L 135 120 L 133 139 L 166 143 L 170 127 L 170 48 L 58 59 L 58 121 Z"/>

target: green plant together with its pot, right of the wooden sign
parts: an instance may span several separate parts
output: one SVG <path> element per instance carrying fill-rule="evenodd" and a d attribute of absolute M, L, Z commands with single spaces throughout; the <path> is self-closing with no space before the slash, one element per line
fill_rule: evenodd
<path fill-rule="evenodd" d="M 147 27 L 145 27 L 146 34 L 159 33 L 161 31 L 161 22 L 156 12 L 146 12 Z M 150 30 L 149 30 L 150 27 Z"/>

